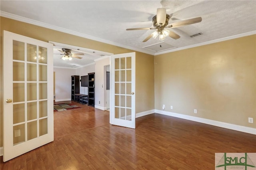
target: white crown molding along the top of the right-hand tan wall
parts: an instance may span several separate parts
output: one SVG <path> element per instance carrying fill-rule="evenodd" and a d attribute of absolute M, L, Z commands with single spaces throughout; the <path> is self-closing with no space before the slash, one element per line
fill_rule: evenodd
<path fill-rule="evenodd" d="M 211 43 L 217 43 L 217 42 L 222 42 L 222 41 L 226 41 L 226 40 L 232 40 L 232 39 L 235 39 L 235 38 L 240 38 L 240 37 L 245 37 L 245 36 L 251 36 L 251 35 L 254 35 L 254 34 L 256 34 L 256 31 L 246 32 L 246 33 L 243 33 L 243 34 L 238 34 L 238 35 L 234 35 L 234 36 L 230 36 L 230 37 L 226 37 L 226 38 L 220 38 L 220 39 L 212 40 L 212 41 L 208 41 L 208 42 L 197 43 L 197 44 L 194 44 L 194 45 L 188 45 L 186 47 L 180 47 L 180 48 L 176 48 L 176 49 L 170 49 L 170 50 L 158 52 L 158 53 L 155 53 L 155 55 L 170 53 L 170 52 L 174 52 L 174 51 L 180 51 L 182 49 L 188 49 L 188 48 L 198 47 L 198 46 L 207 45 L 207 44 L 211 44 Z"/>

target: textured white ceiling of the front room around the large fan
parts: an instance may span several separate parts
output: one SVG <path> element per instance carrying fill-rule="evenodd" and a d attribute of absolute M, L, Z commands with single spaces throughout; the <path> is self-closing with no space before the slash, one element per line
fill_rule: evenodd
<path fill-rule="evenodd" d="M 166 38 L 164 42 L 176 48 L 256 31 L 255 0 L 0 1 L 1 16 L 22 21 L 28 18 L 29 22 L 40 22 L 41 26 L 64 28 L 64 32 L 150 54 L 154 51 L 143 47 L 161 41 L 152 38 L 142 41 L 154 30 L 126 31 L 126 28 L 152 27 L 157 8 L 166 8 L 171 16 L 169 24 L 202 17 L 200 23 L 171 29 L 180 38 Z M 20 16 L 24 18 L 20 19 Z M 198 32 L 203 35 L 190 38 Z"/>

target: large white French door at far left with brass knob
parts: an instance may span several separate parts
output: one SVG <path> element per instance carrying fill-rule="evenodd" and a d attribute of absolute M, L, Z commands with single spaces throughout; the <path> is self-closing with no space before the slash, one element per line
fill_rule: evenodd
<path fill-rule="evenodd" d="M 4 31 L 6 162 L 54 140 L 53 45 Z"/>

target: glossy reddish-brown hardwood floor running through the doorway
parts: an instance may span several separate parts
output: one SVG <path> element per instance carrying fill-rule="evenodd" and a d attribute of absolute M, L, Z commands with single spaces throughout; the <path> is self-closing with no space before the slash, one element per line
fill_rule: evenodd
<path fill-rule="evenodd" d="M 109 112 L 86 105 L 54 113 L 55 140 L 1 170 L 213 170 L 216 152 L 256 152 L 256 136 L 151 114 L 136 130 L 109 124 Z"/>

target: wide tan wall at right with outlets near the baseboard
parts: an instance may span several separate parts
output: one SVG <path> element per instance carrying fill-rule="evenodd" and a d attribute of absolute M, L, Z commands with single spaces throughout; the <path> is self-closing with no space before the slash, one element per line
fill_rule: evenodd
<path fill-rule="evenodd" d="M 156 55 L 155 109 L 163 104 L 165 111 L 256 128 L 256 35 Z"/>

